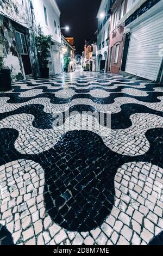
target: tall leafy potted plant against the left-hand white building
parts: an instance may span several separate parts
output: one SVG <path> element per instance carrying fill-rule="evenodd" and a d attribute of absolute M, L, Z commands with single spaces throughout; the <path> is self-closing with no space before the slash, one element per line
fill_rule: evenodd
<path fill-rule="evenodd" d="M 39 26 L 37 35 L 35 35 L 35 46 L 37 48 L 41 78 L 49 77 L 48 51 L 51 50 L 51 40 L 52 35 L 44 35 L 41 26 Z"/>

